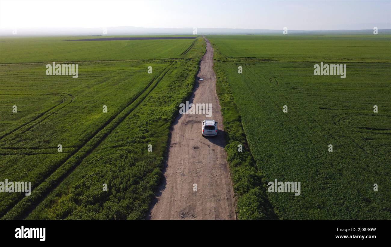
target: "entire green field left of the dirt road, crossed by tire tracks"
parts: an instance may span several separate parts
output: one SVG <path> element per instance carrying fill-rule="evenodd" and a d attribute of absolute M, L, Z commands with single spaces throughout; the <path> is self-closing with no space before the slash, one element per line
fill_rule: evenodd
<path fill-rule="evenodd" d="M 33 189 L 0 193 L 0 217 L 143 218 L 205 43 L 65 39 L 0 39 L 0 181 Z M 79 64 L 79 77 L 46 75 L 52 62 Z"/>

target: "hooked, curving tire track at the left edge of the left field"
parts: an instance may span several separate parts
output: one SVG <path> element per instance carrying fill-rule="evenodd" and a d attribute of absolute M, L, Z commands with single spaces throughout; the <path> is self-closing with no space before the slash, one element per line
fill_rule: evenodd
<path fill-rule="evenodd" d="M 32 127 L 34 127 L 37 124 L 41 123 L 43 120 L 47 119 L 49 116 L 53 115 L 54 113 L 57 113 L 59 110 L 63 109 L 65 106 L 67 106 L 68 104 L 72 103 L 73 100 L 74 100 L 74 97 L 70 93 L 41 93 L 39 95 L 63 96 L 63 101 L 58 103 L 58 104 L 56 104 L 53 107 L 50 107 L 48 110 L 44 111 L 43 113 L 38 113 L 38 116 L 36 116 L 32 120 L 30 120 L 28 122 L 25 122 L 22 125 L 19 125 L 18 127 L 14 128 L 13 130 L 3 134 L 2 136 L 0 136 L 0 140 L 5 138 L 6 136 L 9 136 L 9 135 L 13 134 L 16 131 L 21 130 L 23 127 L 26 127 L 26 129 L 22 130 L 22 132 L 20 134 L 23 134 L 23 133 L 29 131 Z M 56 110 L 52 111 L 57 106 L 60 106 L 61 104 L 63 104 L 66 101 L 65 98 L 67 98 L 67 97 L 70 97 L 70 101 L 67 104 L 65 104 L 64 106 L 60 107 L 59 109 L 56 109 Z"/>

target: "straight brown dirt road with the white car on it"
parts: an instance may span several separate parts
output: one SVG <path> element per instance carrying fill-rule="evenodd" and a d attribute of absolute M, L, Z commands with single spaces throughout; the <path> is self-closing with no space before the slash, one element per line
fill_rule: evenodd
<path fill-rule="evenodd" d="M 164 179 L 149 219 L 235 219 L 230 173 L 224 150 L 224 128 L 216 74 L 213 71 L 213 47 L 206 40 L 197 82 L 190 103 L 211 103 L 212 116 L 179 115 L 171 130 Z M 203 78 L 203 81 L 199 81 Z M 218 122 L 218 135 L 203 137 L 201 122 Z M 197 184 L 197 191 L 194 187 Z"/>

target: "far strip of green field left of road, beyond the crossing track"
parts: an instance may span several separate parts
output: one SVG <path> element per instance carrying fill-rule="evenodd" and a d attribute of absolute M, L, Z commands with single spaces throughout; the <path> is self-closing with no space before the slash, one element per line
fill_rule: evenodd
<path fill-rule="evenodd" d="M 3 63 L 79 62 L 183 58 L 194 39 L 65 41 L 121 36 L 26 37 L 1 39 Z M 185 57 L 197 58 L 192 50 Z"/>

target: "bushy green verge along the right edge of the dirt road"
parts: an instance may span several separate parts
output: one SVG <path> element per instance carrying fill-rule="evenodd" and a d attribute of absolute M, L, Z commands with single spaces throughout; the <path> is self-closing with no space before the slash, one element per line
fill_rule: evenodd
<path fill-rule="evenodd" d="M 237 200 L 238 218 L 240 220 L 275 219 L 276 215 L 265 194 L 262 173 L 257 169 L 248 147 L 226 74 L 218 63 L 214 63 L 214 70 L 217 76 L 216 92 L 220 100 L 224 130 L 227 133 L 225 150 Z M 239 145 L 242 145 L 242 152 L 239 152 Z"/>

